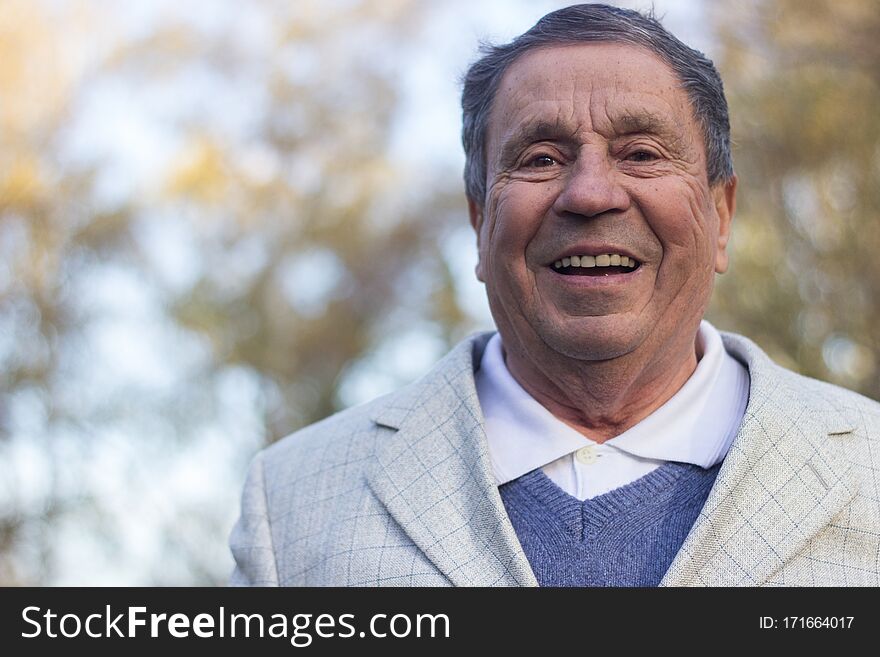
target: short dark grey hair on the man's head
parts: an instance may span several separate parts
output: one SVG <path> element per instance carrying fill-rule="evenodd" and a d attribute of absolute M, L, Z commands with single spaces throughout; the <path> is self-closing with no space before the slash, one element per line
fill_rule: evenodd
<path fill-rule="evenodd" d="M 467 195 L 486 197 L 486 130 L 501 78 L 523 54 L 582 42 L 624 43 L 647 48 L 681 80 L 703 131 L 710 184 L 733 177 L 730 122 L 721 76 L 712 61 L 679 41 L 651 14 L 600 4 L 573 5 L 551 12 L 529 31 L 500 46 L 484 44 L 483 57 L 468 69 L 461 95 L 464 180 Z"/>

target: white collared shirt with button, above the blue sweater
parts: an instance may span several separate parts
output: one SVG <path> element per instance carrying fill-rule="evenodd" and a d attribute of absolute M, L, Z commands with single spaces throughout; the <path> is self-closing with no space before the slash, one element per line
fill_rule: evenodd
<path fill-rule="evenodd" d="M 602 444 L 557 419 L 510 374 L 495 334 L 476 373 L 489 457 L 501 485 L 536 468 L 585 500 L 628 484 L 667 461 L 709 468 L 727 454 L 749 398 L 748 370 L 700 323 L 694 373 L 665 404 Z"/>

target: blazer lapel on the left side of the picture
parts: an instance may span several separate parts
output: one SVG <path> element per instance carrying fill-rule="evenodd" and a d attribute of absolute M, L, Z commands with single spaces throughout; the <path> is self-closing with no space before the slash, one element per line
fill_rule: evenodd
<path fill-rule="evenodd" d="M 489 337 L 459 344 L 374 414 L 395 431 L 379 441 L 369 486 L 456 586 L 537 586 L 492 475 L 474 385 Z"/>

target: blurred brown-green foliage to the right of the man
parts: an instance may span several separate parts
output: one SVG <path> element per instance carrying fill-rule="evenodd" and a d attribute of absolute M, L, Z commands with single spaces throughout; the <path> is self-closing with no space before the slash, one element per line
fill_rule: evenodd
<path fill-rule="evenodd" d="M 712 4 L 740 179 L 712 316 L 880 398 L 876 0 Z"/>

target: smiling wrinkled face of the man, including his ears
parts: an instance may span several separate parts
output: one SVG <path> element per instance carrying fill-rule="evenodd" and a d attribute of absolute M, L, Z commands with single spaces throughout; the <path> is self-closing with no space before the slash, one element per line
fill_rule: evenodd
<path fill-rule="evenodd" d="M 649 51 L 608 43 L 532 51 L 504 75 L 470 212 L 508 350 L 650 357 L 696 331 L 727 267 L 735 185 L 709 186 L 680 86 Z M 601 266 L 614 256 L 629 261 Z"/>

